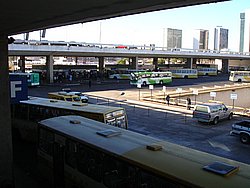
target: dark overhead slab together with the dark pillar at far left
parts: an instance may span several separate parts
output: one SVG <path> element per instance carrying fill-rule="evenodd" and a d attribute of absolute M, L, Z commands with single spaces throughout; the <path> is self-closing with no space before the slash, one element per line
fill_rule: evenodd
<path fill-rule="evenodd" d="M 8 77 L 9 35 L 225 0 L 12 0 L 0 3 L 0 186 L 14 187 Z"/>

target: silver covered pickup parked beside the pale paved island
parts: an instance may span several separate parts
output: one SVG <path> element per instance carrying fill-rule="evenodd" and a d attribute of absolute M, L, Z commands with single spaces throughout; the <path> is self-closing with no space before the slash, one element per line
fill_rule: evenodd
<path fill-rule="evenodd" d="M 204 103 L 194 106 L 193 118 L 199 122 L 217 124 L 222 119 L 231 120 L 233 117 L 232 109 L 220 103 Z"/>

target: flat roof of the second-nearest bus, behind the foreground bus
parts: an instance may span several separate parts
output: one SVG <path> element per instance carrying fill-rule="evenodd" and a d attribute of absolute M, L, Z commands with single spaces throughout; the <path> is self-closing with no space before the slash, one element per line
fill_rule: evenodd
<path fill-rule="evenodd" d="M 28 100 L 20 101 L 20 103 L 35 105 L 35 106 L 45 106 L 50 108 L 60 108 L 73 111 L 100 113 L 100 114 L 109 113 L 116 110 L 123 110 L 123 108 L 121 107 L 78 103 L 78 102 L 67 102 L 62 100 L 40 98 L 40 97 L 29 97 Z"/>

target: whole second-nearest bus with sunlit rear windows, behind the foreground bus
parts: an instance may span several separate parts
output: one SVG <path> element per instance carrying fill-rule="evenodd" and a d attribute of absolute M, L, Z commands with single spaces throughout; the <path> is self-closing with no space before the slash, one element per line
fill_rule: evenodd
<path fill-rule="evenodd" d="M 75 114 L 94 119 L 111 126 L 128 128 L 126 111 L 122 107 L 66 102 L 56 99 L 30 97 L 12 105 L 12 123 L 15 133 L 22 139 L 36 140 L 37 121 Z"/>

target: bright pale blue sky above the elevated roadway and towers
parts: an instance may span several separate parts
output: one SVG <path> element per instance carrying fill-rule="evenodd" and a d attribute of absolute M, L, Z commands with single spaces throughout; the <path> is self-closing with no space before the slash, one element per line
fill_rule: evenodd
<path fill-rule="evenodd" d="M 178 9 L 162 10 L 107 20 L 48 29 L 45 40 L 87 43 L 163 46 L 163 28 L 182 29 L 183 48 L 192 48 L 192 32 L 209 30 L 213 48 L 216 26 L 229 29 L 229 49 L 239 50 L 240 13 L 250 9 L 249 0 L 232 0 Z M 101 33 L 101 35 L 100 35 Z M 23 35 L 16 36 L 23 39 Z M 39 32 L 30 39 L 39 40 Z"/>

